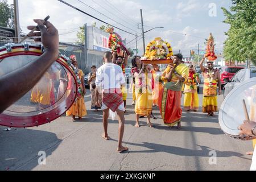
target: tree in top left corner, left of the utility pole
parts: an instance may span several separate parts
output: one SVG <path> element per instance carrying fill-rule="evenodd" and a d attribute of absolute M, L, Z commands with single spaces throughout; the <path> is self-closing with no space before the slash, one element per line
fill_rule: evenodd
<path fill-rule="evenodd" d="M 0 26 L 14 28 L 14 9 L 7 0 L 0 1 Z"/>

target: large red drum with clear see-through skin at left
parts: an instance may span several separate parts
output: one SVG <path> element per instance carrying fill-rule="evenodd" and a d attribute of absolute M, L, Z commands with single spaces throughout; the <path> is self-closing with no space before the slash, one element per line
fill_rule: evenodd
<path fill-rule="evenodd" d="M 42 53 L 43 47 L 36 44 L 0 47 L 0 77 L 35 61 Z M 33 127 L 59 118 L 75 101 L 75 71 L 69 59 L 60 55 L 30 92 L 0 114 L 0 125 Z"/>

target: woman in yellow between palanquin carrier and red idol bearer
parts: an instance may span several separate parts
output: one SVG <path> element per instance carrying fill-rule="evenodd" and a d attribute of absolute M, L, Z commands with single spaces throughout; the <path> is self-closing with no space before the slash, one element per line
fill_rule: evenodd
<path fill-rule="evenodd" d="M 196 82 L 200 82 L 193 65 L 189 65 L 188 80 L 184 82 L 184 110 L 197 111 L 199 109 L 199 97 Z"/>

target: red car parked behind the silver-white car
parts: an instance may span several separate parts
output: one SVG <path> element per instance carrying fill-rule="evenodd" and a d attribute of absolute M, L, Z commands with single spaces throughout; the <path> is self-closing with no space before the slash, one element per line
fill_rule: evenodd
<path fill-rule="evenodd" d="M 224 88 L 224 84 L 226 81 L 231 80 L 231 78 L 241 69 L 244 69 L 244 67 L 235 67 L 235 66 L 228 66 L 221 68 L 220 75 L 221 75 L 221 89 Z M 228 78 L 228 80 L 226 79 Z M 224 81 L 224 79 L 226 81 Z"/>

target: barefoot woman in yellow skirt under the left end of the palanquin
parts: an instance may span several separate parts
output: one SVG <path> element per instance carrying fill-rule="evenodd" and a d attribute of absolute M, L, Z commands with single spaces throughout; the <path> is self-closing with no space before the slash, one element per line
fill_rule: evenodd
<path fill-rule="evenodd" d="M 152 110 L 152 82 L 150 76 L 150 70 L 148 66 L 144 65 L 141 61 L 141 57 L 134 56 L 131 60 L 133 68 L 131 69 L 131 74 L 135 77 L 135 94 L 136 94 L 136 104 L 135 104 L 135 113 L 136 113 L 136 124 L 135 127 L 139 127 L 139 117 L 147 117 L 147 123 L 152 127 L 150 122 L 150 114 Z"/>

